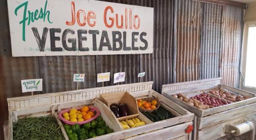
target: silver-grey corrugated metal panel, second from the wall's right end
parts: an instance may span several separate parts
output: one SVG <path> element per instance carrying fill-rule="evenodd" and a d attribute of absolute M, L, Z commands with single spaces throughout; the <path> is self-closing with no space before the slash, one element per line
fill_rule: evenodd
<path fill-rule="evenodd" d="M 220 76 L 222 6 L 202 3 L 200 79 Z"/>

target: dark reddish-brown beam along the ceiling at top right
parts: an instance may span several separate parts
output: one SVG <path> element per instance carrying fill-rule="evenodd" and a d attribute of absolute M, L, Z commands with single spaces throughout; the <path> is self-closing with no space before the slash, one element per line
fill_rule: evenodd
<path fill-rule="evenodd" d="M 194 0 L 194 1 L 199 1 L 203 3 L 213 3 L 213 4 L 223 5 L 223 6 L 236 6 L 240 8 L 247 7 L 246 3 L 240 3 L 233 0 Z"/>

